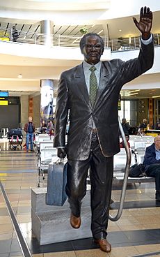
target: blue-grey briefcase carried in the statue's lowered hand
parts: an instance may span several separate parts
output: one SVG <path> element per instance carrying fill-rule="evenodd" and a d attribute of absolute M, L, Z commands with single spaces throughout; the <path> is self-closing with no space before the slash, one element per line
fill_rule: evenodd
<path fill-rule="evenodd" d="M 49 163 L 46 195 L 47 205 L 63 206 L 67 199 L 65 193 L 66 183 L 67 163 L 60 160 L 56 163 Z"/>

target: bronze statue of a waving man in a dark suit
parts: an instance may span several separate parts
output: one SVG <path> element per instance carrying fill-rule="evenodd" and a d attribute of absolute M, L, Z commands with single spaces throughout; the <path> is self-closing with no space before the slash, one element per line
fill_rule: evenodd
<path fill-rule="evenodd" d="M 86 179 L 90 169 L 91 230 L 95 243 L 106 252 L 111 251 L 111 244 L 106 240 L 106 229 L 113 180 L 113 155 L 120 152 L 120 89 L 150 69 L 154 59 L 150 8 L 141 8 L 140 21 L 134 18 L 134 23 L 142 33 L 138 58 L 100 61 L 104 41 L 98 34 L 88 33 L 80 41 L 83 62 L 64 71 L 58 82 L 54 147 L 58 149 L 58 157 L 65 157 L 67 152 L 66 193 L 71 209 L 70 225 L 72 228 L 81 226 L 81 201 L 86 195 Z"/>

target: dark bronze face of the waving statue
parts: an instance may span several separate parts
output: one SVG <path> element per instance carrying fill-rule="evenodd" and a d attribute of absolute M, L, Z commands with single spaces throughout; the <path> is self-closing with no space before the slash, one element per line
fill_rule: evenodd
<path fill-rule="evenodd" d="M 86 45 L 83 47 L 82 53 L 88 64 L 97 64 L 103 52 L 104 48 L 97 36 L 86 37 Z"/>

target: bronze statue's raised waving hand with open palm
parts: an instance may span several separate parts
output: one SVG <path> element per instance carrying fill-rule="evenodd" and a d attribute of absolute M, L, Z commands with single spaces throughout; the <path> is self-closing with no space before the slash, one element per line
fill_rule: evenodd
<path fill-rule="evenodd" d="M 150 8 L 146 6 L 144 8 L 142 7 L 140 12 L 139 22 L 136 20 L 135 17 L 133 17 L 133 20 L 138 30 L 141 31 L 142 38 L 144 40 L 147 40 L 148 38 L 150 38 L 150 31 L 152 28 L 152 20 L 153 20 L 153 15 L 152 15 L 152 12 L 150 11 Z"/>

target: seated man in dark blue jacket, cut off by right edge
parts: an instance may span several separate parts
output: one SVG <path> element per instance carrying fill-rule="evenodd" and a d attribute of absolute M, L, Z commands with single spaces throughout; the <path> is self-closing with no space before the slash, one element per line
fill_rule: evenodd
<path fill-rule="evenodd" d="M 145 149 L 143 165 L 147 177 L 155 177 L 155 198 L 160 201 L 160 135 L 157 135 L 154 143 Z"/>

